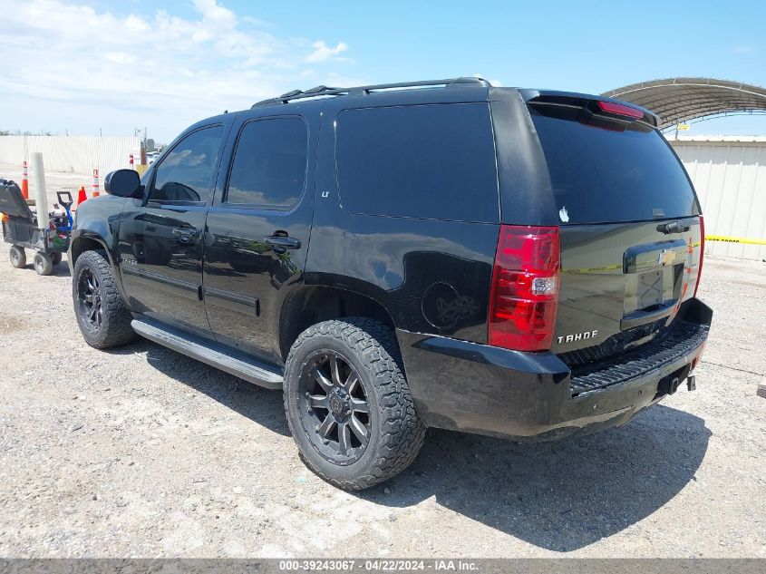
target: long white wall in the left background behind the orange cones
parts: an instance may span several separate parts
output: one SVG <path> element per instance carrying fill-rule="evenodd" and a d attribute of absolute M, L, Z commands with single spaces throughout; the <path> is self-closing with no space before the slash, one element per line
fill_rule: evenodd
<path fill-rule="evenodd" d="M 131 137 L 0 136 L 0 163 L 22 165 L 33 151 L 43 153 L 45 170 L 92 175 L 130 167 L 140 161 L 141 142 Z"/>

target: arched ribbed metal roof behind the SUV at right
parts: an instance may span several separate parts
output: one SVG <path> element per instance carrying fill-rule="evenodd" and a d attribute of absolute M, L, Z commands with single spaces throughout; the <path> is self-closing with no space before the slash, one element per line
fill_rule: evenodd
<path fill-rule="evenodd" d="M 713 115 L 766 113 L 766 89 L 713 78 L 667 78 L 632 83 L 604 96 L 633 102 L 660 116 L 660 129 Z"/>

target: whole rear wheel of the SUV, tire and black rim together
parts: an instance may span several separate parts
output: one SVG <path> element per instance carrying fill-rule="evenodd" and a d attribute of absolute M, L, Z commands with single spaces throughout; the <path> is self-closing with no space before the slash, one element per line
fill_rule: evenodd
<path fill-rule="evenodd" d="M 287 422 L 306 465 L 358 491 L 409 466 L 425 438 L 391 329 L 371 319 L 325 321 L 287 357 Z"/>

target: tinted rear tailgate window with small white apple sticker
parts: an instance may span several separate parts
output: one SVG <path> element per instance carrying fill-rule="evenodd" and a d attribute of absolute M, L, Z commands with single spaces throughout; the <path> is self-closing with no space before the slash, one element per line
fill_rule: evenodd
<path fill-rule="evenodd" d="M 660 134 L 643 123 L 583 123 L 581 110 L 530 108 L 563 223 L 697 215 L 692 186 Z"/>

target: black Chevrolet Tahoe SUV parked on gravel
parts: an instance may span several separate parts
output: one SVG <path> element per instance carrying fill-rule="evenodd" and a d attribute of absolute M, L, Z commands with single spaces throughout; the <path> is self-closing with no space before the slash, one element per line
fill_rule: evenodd
<path fill-rule="evenodd" d="M 623 424 L 693 389 L 712 317 L 699 202 L 657 124 L 477 78 L 224 113 L 77 210 L 78 323 L 283 389 L 306 464 L 344 489 L 401 472 L 427 427 Z"/>

